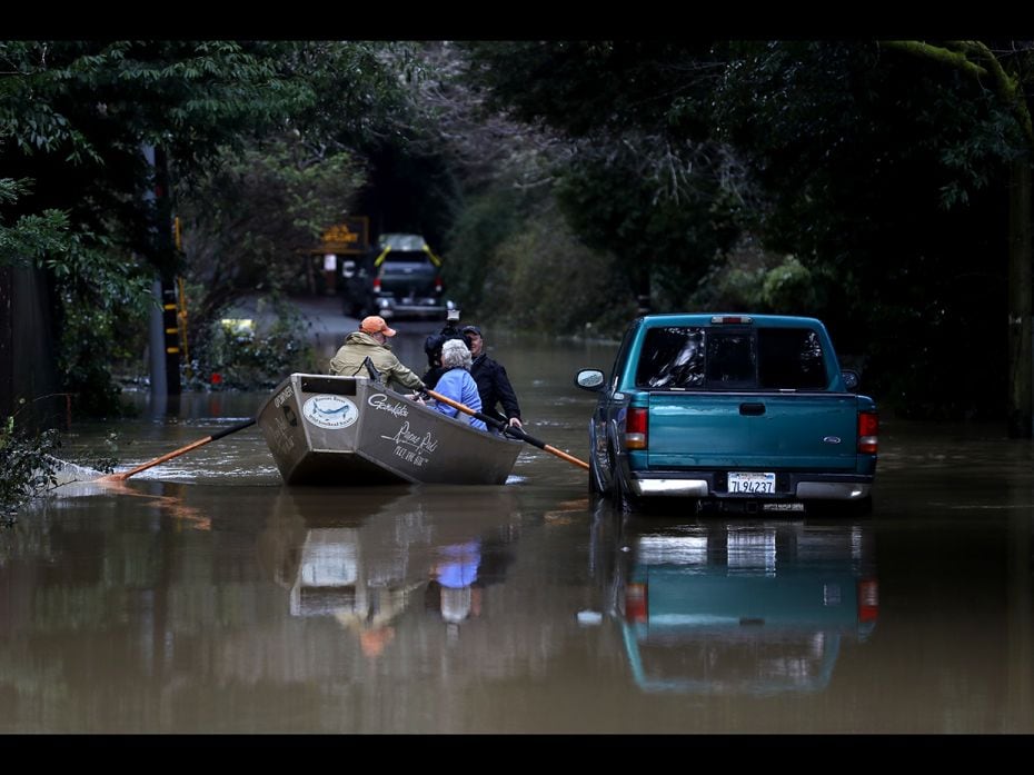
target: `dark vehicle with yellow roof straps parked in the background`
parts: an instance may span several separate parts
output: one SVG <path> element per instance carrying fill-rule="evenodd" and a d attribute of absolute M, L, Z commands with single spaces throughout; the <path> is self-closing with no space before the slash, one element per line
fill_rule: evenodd
<path fill-rule="evenodd" d="M 441 259 L 419 235 L 386 234 L 374 259 L 374 292 L 384 318 L 445 314 Z"/>

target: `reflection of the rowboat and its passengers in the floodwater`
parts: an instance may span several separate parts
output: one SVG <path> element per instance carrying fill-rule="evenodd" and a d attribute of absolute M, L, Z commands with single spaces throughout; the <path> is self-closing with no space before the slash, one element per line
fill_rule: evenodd
<path fill-rule="evenodd" d="M 519 509 L 498 487 L 285 489 L 260 541 L 292 616 L 332 616 L 379 656 L 416 600 L 447 634 L 501 579 Z M 440 626 L 440 625 L 439 625 Z"/>

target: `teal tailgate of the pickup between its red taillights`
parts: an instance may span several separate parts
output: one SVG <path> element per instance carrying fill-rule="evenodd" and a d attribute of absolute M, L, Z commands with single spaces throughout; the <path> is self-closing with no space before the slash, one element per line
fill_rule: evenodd
<path fill-rule="evenodd" d="M 851 394 L 652 393 L 650 468 L 853 470 Z"/>

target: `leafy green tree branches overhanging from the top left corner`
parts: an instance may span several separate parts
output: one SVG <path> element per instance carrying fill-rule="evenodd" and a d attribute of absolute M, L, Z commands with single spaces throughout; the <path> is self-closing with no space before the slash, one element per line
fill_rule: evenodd
<path fill-rule="evenodd" d="M 171 248 L 169 212 L 159 218 L 159 209 L 171 207 L 171 188 L 270 132 L 298 129 L 314 147 L 340 142 L 346 130 L 367 132 L 395 89 L 382 49 L 304 41 L 0 42 L 0 165 L 10 179 L 32 186 L 31 197 L 0 203 L 0 217 L 63 213 L 73 232 L 97 236 L 93 247 L 112 257 L 108 266 L 139 264 L 169 281 L 180 256 Z M 160 166 L 158 173 L 148 166 L 147 147 L 169 159 L 168 181 Z M 50 256 L 74 275 L 79 265 L 64 258 Z M 120 277 L 110 275 L 113 282 Z M 56 312 L 88 312 L 80 301 L 59 301 Z M 101 371 L 103 354 L 91 352 Z"/>

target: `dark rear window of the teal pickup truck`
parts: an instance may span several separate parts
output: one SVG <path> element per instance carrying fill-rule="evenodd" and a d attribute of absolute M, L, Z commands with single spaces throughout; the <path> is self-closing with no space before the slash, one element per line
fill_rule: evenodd
<path fill-rule="evenodd" d="M 650 328 L 636 387 L 705 390 L 821 390 L 826 364 L 807 328 Z"/>

